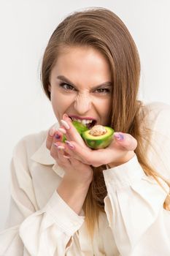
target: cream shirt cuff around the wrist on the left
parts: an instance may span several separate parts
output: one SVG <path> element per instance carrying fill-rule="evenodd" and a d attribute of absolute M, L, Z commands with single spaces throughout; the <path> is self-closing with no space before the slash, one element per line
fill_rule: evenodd
<path fill-rule="evenodd" d="M 72 236 L 79 230 L 85 219 L 85 217 L 77 215 L 56 191 L 43 210 L 53 218 L 56 225 L 68 236 Z"/>

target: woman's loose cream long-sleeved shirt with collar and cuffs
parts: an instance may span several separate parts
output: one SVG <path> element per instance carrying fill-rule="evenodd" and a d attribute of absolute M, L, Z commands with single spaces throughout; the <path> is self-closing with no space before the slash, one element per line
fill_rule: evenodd
<path fill-rule="evenodd" d="M 146 149 L 150 164 L 170 180 L 170 106 L 142 107 L 152 129 Z M 2 256 L 169 256 L 170 211 L 166 192 L 133 159 L 104 170 L 105 212 L 90 241 L 85 217 L 56 192 L 64 171 L 45 146 L 46 132 L 28 135 L 15 147 L 11 163 L 11 205 L 7 230 L 0 234 Z M 69 239 L 71 245 L 66 248 Z"/>

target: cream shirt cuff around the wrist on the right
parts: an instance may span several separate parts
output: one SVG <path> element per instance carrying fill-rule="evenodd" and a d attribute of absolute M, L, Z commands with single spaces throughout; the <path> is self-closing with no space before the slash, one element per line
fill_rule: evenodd
<path fill-rule="evenodd" d="M 104 170 L 103 173 L 106 185 L 112 183 L 115 187 L 129 186 L 145 176 L 136 154 L 125 164 Z"/>

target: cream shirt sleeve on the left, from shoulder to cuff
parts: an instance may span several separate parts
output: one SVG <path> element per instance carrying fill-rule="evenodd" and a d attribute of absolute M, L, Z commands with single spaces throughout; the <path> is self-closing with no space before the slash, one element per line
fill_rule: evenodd
<path fill-rule="evenodd" d="M 1 255 L 66 255 L 66 244 L 84 217 L 69 208 L 56 191 L 44 208 L 38 208 L 23 142 L 12 158 L 11 195 L 7 229 L 0 233 Z"/>

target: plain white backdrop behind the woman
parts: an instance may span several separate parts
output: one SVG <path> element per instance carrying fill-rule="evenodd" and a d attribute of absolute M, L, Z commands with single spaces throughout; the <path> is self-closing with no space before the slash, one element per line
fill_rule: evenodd
<path fill-rule="evenodd" d="M 128 26 L 142 64 L 139 99 L 170 103 L 169 0 L 0 0 L 0 229 L 15 144 L 56 121 L 41 88 L 43 52 L 58 23 L 85 7 L 107 7 Z"/>

